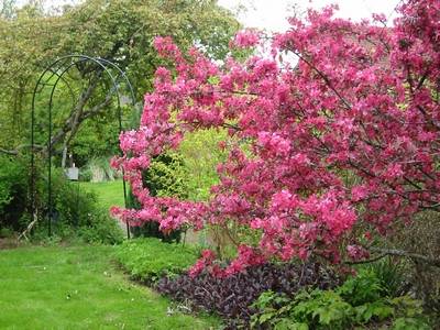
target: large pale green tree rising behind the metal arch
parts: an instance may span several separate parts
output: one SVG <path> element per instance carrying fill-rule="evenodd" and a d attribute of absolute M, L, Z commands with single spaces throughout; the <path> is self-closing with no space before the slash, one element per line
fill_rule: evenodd
<path fill-rule="evenodd" d="M 30 97 L 38 74 L 55 58 L 86 54 L 111 61 L 127 72 L 139 95 L 140 90 L 151 89 L 151 77 L 163 64 L 152 48 L 155 36 L 173 35 L 184 48 L 198 44 L 210 57 L 222 58 L 228 52 L 230 36 L 239 28 L 232 14 L 217 1 L 90 0 L 65 7 L 55 14 L 46 13 L 41 2 L 31 2 L 18 10 L 13 8 L 12 1 L 4 2 L 0 20 L 0 147 L 11 153 L 26 144 Z M 73 75 L 77 76 L 70 78 L 80 79 L 82 85 L 73 82 L 77 99 L 68 105 L 67 90 L 63 91 L 66 87 L 61 86 L 54 143 L 62 142 L 68 132 L 75 132 L 87 118 L 99 116 L 101 122 L 114 120 L 116 113 L 111 110 L 114 107 L 108 81 L 102 82 L 101 68 L 78 65 Z M 78 121 L 74 121 L 78 113 Z M 37 118 L 43 136 L 44 118 Z M 95 129 L 90 123 L 84 128 L 85 135 Z M 88 135 L 90 142 L 96 143 L 94 134 Z M 44 140 L 38 138 L 38 143 L 43 144 Z M 111 152 L 114 145 L 109 146 L 108 153 Z"/>

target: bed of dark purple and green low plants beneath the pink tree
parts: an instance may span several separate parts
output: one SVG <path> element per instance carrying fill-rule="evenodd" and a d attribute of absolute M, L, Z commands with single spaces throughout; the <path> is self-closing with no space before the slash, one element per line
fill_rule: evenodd
<path fill-rule="evenodd" d="M 165 276 L 154 287 L 190 309 L 220 315 L 226 329 L 433 329 L 436 318 L 402 277 L 402 268 L 385 262 L 345 279 L 319 264 L 267 263 L 227 277 Z"/>

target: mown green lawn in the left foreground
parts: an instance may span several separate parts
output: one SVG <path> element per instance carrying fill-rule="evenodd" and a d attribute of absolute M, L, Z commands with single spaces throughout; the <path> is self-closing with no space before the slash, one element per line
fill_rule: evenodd
<path fill-rule="evenodd" d="M 128 282 L 112 246 L 0 250 L 1 329 L 217 329 Z M 170 307 L 172 312 L 168 312 Z"/>

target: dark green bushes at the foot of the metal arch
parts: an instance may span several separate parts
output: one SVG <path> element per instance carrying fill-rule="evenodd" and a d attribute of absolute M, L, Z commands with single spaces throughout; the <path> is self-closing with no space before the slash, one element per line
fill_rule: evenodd
<path fill-rule="evenodd" d="M 47 237 L 47 174 L 43 162 L 35 160 L 35 209 L 38 221 L 34 240 Z M 0 229 L 23 231 L 32 221 L 30 215 L 30 161 L 24 156 L 0 156 Z M 67 180 L 61 168 L 52 170 L 52 233 L 59 240 L 79 238 L 86 242 L 119 243 L 122 231 L 108 210 L 97 205 L 92 193 Z"/>

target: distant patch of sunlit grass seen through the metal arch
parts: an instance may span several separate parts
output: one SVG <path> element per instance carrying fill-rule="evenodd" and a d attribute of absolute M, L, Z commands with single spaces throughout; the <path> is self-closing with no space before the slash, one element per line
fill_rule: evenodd
<path fill-rule="evenodd" d="M 98 205 L 106 210 L 112 206 L 124 206 L 122 180 L 79 183 L 79 185 L 88 191 L 94 191 L 98 197 Z"/>

